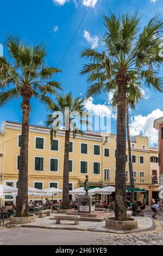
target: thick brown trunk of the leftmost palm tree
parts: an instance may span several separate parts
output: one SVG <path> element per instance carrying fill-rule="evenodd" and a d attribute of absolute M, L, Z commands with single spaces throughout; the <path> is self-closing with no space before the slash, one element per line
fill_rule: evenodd
<path fill-rule="evenodd" d="M 28 137 L 29 137 L 30 96 L 23 95 L 22 136 L 20 150 L 20 169 L 18 175 L 18 193 L 16 216 L 28 216 Z"/>

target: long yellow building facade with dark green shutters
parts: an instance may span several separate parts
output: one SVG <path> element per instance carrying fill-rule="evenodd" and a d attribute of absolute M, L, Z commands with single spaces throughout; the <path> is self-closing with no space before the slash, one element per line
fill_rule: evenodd
<path fill-rule="evenodd" d="M 51 146 L 49 131 L 47 127 L 29 127 L 28 186 L 62 189 L 65 132 L 58 131 Z M 88 131 L 84 136 L 78 135 L 75 139 L 71 136 L 70 142 L 70 190 L 82 186 L 86 174 L 89 175 L 90 187 L 115 185 L 116 135 Z M 0 133 L 0 182 L 5 185 L 17 186 L 20 143 L 21 124 L 3 122 Z M 129 187 L 128 149 L 126 154 L 126 181 Z M 135 187 L 147 191 L 145 198 L 150 204 L 150 160 L 151 154 L 158 157 L 158 150 L 153 153 L 152 149 L 149 149 L 147 137 L 135 136 L 131 138 L 131 154 Z M 145 179 L 146 177 L 148 179 Z M 141 193 L 139 196 L 137 193 L 137 199 L 139 197 Z M 16 197 L 4 198 L 6 203 L 15 203 L 15 200 Z"/>

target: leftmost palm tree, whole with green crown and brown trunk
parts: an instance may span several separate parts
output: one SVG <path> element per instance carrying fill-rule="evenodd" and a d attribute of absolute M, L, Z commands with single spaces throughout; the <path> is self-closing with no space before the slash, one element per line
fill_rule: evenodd
<path fill-rule="evenodd" d="M 30 99 L 50 103 L 60 84 L 53 81 L 57 68 L 45 66 L 46 48 L 29 46 L 17 37 L 8 36 L 10 60 L 0 58 L 0 106 L 12 99 L 22 99 L 22 134 L 16 216 L 28 216 L 28 137 Z"/>

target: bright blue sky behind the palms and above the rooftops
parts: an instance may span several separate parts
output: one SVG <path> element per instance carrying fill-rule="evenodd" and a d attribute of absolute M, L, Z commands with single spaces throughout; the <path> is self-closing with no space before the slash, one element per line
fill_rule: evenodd
<path fill-rule="evenodd" d="M 0 44 L 4 44 L 7 34 L 17 35 L 34 44 L 42 41 L 47 45 L 47 64 L 58 66 L 90 2 L 91 0 L 1 1 Z M 105 32 L 102 15 L 109 14 L 109 9 L 114 13 L 139 10 L 143 15 L 141 25 L 145 26 L 157 11 L 162 14 L 162 3 L 163 0 L 94 0 L 93 7 L 86 14 L 59 66 L 62 72 L 56 76 L 56 80 L 61 82 L 65 92 L 72 91 L 74 96 L 84 95 L 86 92 L 86 78 L 79 75 L 84 60 L 79 55 L 83 47 L 96 47 L 96 50 L 101 50 L 100 40 Z M 5 46 L 4 56 L 7 56 Z M 160 76 L 162 76 L 162 71 L 160 71 Z M 146 88 L 144 90 L 143 101 L 161 95 L 154 90 L 149 91 Z M 152 143 L 156 142 L 157 134 L 151 126 L 154 118 L 163 115 L 162 99 L 163 97 L 160 97 L 141 102 L 136 106 L 135 111 L 130 113 L 132 135 L 142 132 L 149 136 L 151 132 Z M 90 103 L 93 109 L 103 109 L 104 104 L 108 106 L 108 101 L 108 96 L 102 95 L 91 99 Z M 30 123 L 42 124 L 46 119 L 45 107 L 41 104 L 37 108 L 36 106 L 37 102 L 32 100 Z M 12 101 L 0 109 L 0 121 L 3 120 L 21 122 L 20 102 Z M 115 119 L 111 121 L 111 132 L 116 132 Z"/>

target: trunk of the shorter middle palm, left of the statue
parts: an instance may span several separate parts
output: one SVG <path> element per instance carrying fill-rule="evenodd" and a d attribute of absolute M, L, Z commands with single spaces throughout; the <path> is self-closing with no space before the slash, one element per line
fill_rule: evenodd
<path fill-rule="evenodd" d="M 69 144 L 70 144 L 70 129 L 65 131 L 65 153 L 64 153 L 62 209 L 69 209 L 70 208 L 70 199 L 69 199 Z"/>

